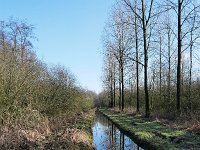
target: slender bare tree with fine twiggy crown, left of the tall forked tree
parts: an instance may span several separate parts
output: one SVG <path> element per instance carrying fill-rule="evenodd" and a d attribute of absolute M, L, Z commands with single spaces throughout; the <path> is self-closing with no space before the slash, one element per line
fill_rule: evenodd
<path fill-rule="evenodd" d="M 119 76 L 119 108 L 123 111 L 125 106 L 124 100 L 124 86 L 125 86 L 125 69 L 127 63 L 127 55 L 132 49 L 132 28 L 125 22 L 127 16 L 124 11 L 119 7 L 113 11 L 112 22 L 109 24 L 109 51 L 115 57 L 117 65 L 115 63 L 115 72 L 118 71 Z"/>

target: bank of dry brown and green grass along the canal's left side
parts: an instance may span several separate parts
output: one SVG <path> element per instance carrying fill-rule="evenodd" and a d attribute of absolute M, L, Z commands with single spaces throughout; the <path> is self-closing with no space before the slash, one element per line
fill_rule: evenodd
<path fill-rule="evenodd" d="M 71 116 L 71 118 L 46 118 L 43 126 L 25 130 L 21 127 L 1 127 L 0 149 L 38 150 L 92 150 L 91 126 L 95 109 Z M 41 131 L 40 131 L 41 130 Z"/>

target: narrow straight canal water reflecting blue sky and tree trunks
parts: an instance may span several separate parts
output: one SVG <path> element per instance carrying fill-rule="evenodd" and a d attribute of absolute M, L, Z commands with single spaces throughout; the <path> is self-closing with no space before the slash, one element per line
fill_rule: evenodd
<path fill-rule="evenodd" d="M 143 150 L 99 112 L 92 130 L 96 150 Z"/>

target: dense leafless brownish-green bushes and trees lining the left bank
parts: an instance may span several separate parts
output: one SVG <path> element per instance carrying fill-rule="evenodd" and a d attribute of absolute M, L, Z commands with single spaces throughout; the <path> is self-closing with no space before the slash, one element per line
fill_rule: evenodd
<path fill-rule="evenodd" d="M 17 144 L 29 130 L 45 136 L 58 128 L 52 123 L 93 107 L 95 93 L 68 69 L 37 58 L 33 29 L 25 21 L 0 22 L 0 145 Z"/>

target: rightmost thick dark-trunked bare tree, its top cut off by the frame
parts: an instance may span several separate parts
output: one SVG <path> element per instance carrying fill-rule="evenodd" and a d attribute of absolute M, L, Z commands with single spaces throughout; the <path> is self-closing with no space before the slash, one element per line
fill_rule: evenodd
<path fill-rule="evenodd" d="M 178 0 L 177 2 L 166 0 L 167 6 L 172 8 L 177 15 L 177 93 L 176 93 L 176 109 L 181 112 L 181 64 L 182 53 L 188 49 L 191 44 L 187 43 L 187 38 L 190 36 L 191 28 L 188 28 L 187 24 L 190 22 L 192 15 L 196 9 L 199 9 L 200 5 L 196 4 L 192 0 Z M 199 27 L 192 28 L 193 32 L 196 32 Z"/>

